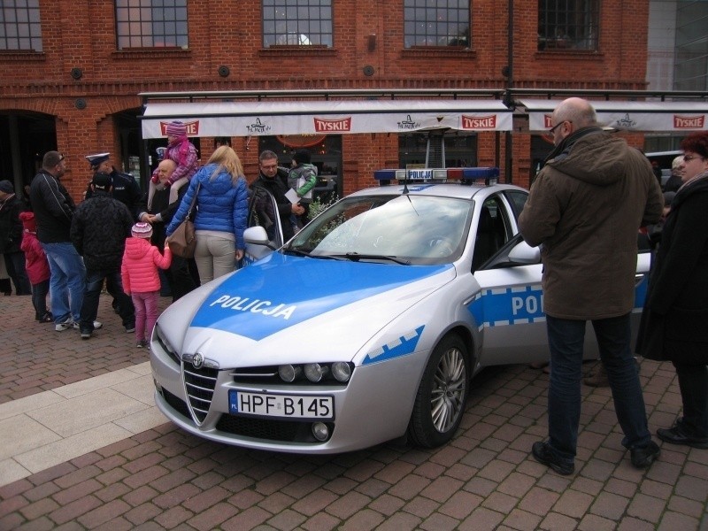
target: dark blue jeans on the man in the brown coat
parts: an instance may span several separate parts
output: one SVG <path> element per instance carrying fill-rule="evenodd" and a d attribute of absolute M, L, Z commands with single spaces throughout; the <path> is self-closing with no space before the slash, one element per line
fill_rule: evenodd
<path fill-rule="evenodd" d="M 622 446 L 643 448 L 651 435 L 642 387 L 630 348 L 629 314 L 592 321 L 600 358 L 607 369 L 617 419 L 625 436 Z M 573 463 L 581 417 L 582 347 L 585 321 L 546 316 L 550 349 L 548 433 L 550 450 Z"/>

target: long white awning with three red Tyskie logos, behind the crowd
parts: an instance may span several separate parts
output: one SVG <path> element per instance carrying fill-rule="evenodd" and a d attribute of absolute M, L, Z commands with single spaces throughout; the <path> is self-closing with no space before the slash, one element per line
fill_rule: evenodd
<path fill-rule="evenodd" d="M 511 131 L 512 111 L 499 100 L 411 99 L 260 101 L 145 105 L 142 138 L 165 137 L 174 119 L 189 136 L 345 135 L 430 129 Z"/>

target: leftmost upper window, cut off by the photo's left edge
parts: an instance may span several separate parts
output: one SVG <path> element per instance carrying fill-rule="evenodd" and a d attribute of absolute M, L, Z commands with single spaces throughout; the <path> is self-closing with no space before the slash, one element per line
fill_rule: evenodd
<path fill-rule="evenodd" d="M 39 0 L 0 2 L 0 50 L 42 51 Z"/>

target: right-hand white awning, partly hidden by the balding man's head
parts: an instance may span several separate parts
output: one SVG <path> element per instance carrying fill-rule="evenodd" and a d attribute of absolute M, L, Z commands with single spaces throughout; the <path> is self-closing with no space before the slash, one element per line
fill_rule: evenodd
<path fill-rule="evenodd" d="M 530 131 L 548 131 L 550 114 L 561 100 L 522 99 L 528 112 Z M 591 101 L 597 121 L 603 126 L 625 131 L 689 132 L 705 128 L 706 102 Z"/>

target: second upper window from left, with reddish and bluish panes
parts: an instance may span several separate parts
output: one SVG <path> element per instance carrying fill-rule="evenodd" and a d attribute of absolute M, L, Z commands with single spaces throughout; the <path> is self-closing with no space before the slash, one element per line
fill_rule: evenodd
<path fill-rule="evenodd" d="M 116 0 L 118 49 L 187 48 L 187 0 Z"/>

